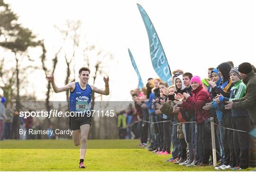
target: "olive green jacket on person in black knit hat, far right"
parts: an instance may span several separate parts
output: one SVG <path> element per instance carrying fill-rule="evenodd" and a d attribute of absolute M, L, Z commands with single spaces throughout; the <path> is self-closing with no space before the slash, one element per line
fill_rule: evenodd
<path fill-rule="evenodd" d="M 247 74 L 243 82 L 246 84 L 246 95 L 240 99 L 232 100 L 234 102 L 232 109 L 247 109 L 252 123 L 256 125 L 256 74 L 253 70 Z"/>

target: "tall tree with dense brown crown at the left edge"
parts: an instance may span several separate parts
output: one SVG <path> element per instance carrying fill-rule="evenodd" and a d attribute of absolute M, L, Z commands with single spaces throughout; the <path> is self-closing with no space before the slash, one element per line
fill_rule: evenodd
<path fill-rule="evenodd" d="M 31 30 L 18 23 L 18 16 L 10 9 L 9 5 L 0 0 L 0 46 L 14 54 L 16 66 L 16 109 L 19 111 L 20 104 L 20 64 L 23 57 L 28 57 L 27 49 L 38 46 L 37 36 Z M 28 58 L 29 60 L 29 58 Z"/>

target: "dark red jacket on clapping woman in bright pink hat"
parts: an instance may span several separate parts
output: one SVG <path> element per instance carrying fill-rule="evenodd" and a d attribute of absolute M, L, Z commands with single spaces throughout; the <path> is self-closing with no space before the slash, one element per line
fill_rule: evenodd
<path fill-rule="evenodd" d="M 210 111 L 203 110 L 205 103 L 210 102 L 210 94 L 203 86 L 198 86 L 192 90 L 192 97 L 188 97 L 181 105 L 181 111 L 194 111 L 196 120 L 201 124 L 207 118 L 210 118 Z"/>

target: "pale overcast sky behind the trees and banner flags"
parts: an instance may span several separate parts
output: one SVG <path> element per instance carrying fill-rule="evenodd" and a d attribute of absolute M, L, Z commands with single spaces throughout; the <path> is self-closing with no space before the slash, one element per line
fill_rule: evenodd
<path fill-rule="evenodd" d="M 112 101 L 131 100 L 129 91 L 138 84 L 128 55 L 133 53 L 146 85 L 148 77 L 157 77 L 152 68 L 149 43 L 139 3 L 150 17 L 165 50 L 170 69 L 183 69 L 207 77 L 209 67 L 232 60 L 256 65 L 256 3 L 254 0 L 5 0 L 18 14 L 19 22 L 44 39 L 49 52 L 57 42 L 54 25 L 66 19 L 82 21 L 86 41 L 110 52 L 108 62 Z M 57 86 L 64 85 L 64 57 L 56 69 Z M 77 62 L 75 71 L 82 64 Z M 31 74 L 38 99 L 44 99 L 46 79 L 43 72 Z M 40 79 L 41 78 L 41 79 Z M 78 77 L 77 77 L 78 79 Z M 37 80 L 37 82 L 34 82 Z M 90 79 L 89 83 L 91 83 Z M 97 87 L 104 87 L 98 79 Z M 40 91 L 43 90 L 43 91 Z M 52 101 L 65 100 L 54 94 Z"/>

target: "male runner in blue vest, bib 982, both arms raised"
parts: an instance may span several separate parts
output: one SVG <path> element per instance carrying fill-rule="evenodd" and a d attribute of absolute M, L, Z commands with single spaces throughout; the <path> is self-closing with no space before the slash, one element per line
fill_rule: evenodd
<path fill-rule="evenodd" d="M 87 112 L 91 110 L 91 92 L 101 95 L 109 95 L 109 77 L 103 77 L 105 82 L 105 89 L 97 88 L 96 86 L 89 85 L 90 69 L 81 68 L 79 69 L 79 82 L 72 82 L 63 87 L 57 87 L 54 82 L 54 73 L 46 78 L 52 83 L 55 93 L 64 92 L 70 90 L 69 95 L 69 107 L 72 112 L 85 112 L 84 116 L 75 116 L 71 117 L 69 121 L 69 127 L 73 130 L 72 137 L 75 146 L 79 146 L 81 138 L 81 147 L 80 147 L 80 163 L 79 168 L 85 168 L 83 161 L 87 149 L 87 137 L 89 129 L 91 127 L 91 115 L 87 115 Z"/>

